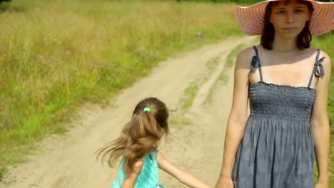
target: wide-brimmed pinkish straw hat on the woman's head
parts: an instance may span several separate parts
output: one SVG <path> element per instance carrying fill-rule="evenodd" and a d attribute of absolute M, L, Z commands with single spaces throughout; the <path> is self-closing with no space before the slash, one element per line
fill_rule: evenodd
<path fill-rule="evenodd" d="M 279 0 L 267 0 L 252 6 L 236 7 L 234 14 L 243 33 L 251 36 L 262 34 L 265 7 L 270 1 Z M 334 30 L 334 3 L 305 1 L 310 1 L 314 9 L 310 19 L 310 33 L 312 36 L 318 36 Z"/>

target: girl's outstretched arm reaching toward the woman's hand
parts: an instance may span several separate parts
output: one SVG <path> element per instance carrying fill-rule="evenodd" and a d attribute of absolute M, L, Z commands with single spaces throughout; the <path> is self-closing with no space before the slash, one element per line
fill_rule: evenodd
<path fill-rule="evenodd" d="M 156 152 L 156 161 L 158 162 L 158 166 L 160 169 L 167 172 L 168 174 L 171 174 L 173 177 L 176 177 L 178 181 L 188 185 L 189 187 L 194 187 L 194 188 L 209 187 L 206 183 L 201 182 L 201 180 L 197 179 L 192 174 L 175 167 L 173 164 L 171 164 L 171 162 L 168 162 L 165 159 L 165 157 L 163 157 L 163 155 L 161 155 L 161 153 L 158 151 Z"/>

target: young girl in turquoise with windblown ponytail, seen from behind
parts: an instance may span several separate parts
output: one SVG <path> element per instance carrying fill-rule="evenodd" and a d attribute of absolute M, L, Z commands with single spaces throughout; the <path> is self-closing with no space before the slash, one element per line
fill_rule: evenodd
<path fill-rule="evenodd" d="M 109 166 L 123 156 L 112 188 L 156 188 L 158 167 L 189 187 L 207 188 L 192 174 L 178 169 L 157 150 L 158 142 L 168 134 L 168 109 L 157 98 L 146 98 L 136 105 L 121 136 L 103 147 L 98 155 L 108 158 Z"/>

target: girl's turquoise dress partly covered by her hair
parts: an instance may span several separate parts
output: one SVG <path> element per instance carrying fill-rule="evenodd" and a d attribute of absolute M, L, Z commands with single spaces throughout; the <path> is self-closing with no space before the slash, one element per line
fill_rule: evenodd
<path fill-rule="evenodd" d="M 158 163 L 156 162 L 156 152 L 152 151 L 150 155 L 151 158 L 147 155 L 143 157 L 143 167 L 138 174 L 133 188 L 163 188 L 163 185 L 158 184 Z M 117 177 L 111 185 L 111 188 L 122 187 L 125 178 L 125 172 L 123 170 L 125 160 L 126 158 L 123 157 L 118 167 Z"/>

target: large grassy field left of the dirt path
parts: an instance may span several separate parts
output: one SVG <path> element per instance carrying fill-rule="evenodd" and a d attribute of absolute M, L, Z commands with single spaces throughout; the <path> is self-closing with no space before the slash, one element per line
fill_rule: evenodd
<path fill-rule="evenodd" d="M 241 35 L 232 7 L 139 0 L 1 4 L 1 169 L 24 161 L 36 141 L 66 132 L 81 105 L 108 105 L 168 56 Z"/>

